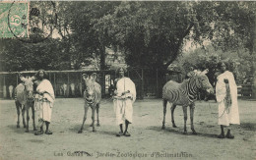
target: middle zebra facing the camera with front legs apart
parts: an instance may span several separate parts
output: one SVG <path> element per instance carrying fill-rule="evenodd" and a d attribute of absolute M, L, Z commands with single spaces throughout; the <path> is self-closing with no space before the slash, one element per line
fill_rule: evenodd
<path fill-rule="evenodd" d="M 96 133 L 95 129 L 95 113 L 97 115 L 97 124 L 96 126 L 99 127 L 99 120 L 98 120 L 98 112 L 99 112 L 99 103 L 101 100 L 101 86 L 96 82 L 96 73 L 92 74 L 90 77 L 86 74 L 83 74 L 83 80 L 86 83 L 86 90 L 84 91 L 84 99 L 85 99 L 85 115 L 83 119 L 83 124 L 78 133 L 83 133 L 84 124 L 87 120 L 87 112 L 89 107 L 92 108 L 92 120 L 93 123 L 91 127 L 93 127 L 93 132 Z"/>

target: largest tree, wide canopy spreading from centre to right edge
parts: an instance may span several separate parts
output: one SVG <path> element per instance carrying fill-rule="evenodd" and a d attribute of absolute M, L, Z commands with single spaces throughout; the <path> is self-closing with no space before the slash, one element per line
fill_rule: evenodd
<path fill-rule="evenodd" d="M 255 5 L 253 2 L 122 2 L 112 15 L 101 18 L 97 27 L 105 28 L 102 34 L 125 49 L 128 64 L 166 69 L 181 53 L 187 39 L 199 44 L 212 40 L 224 51 L 233 49 L 234 44 L 236 48 L 242 45 L 250 49 L 255 10 L 250 7 L 252 4 Z"/>

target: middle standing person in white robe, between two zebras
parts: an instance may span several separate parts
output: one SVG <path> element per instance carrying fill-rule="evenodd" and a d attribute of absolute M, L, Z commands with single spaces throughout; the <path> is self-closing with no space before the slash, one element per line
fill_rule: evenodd
<path fill-rule="evenodd" d="M 116 115 L 116 123 L 120 127 L 120 132 L 116 136 L 131 136 L 128 133 L 128 126 L 133 120 L 133 103 L 136 100 L 135 84 L 129 78 L 124 77 L 126 70 L 124 68 L 117 69 L 119 78 L 115 80 L 114 91 L 114 112 Z M 123 131 L 123 124 L 125 130 Z"/>

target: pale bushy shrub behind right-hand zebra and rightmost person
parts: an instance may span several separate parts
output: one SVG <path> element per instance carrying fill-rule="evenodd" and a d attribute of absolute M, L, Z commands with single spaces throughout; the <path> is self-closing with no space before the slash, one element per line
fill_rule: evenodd
<path fill-rule="evenodd" d="M 182 71 L 183 75 L 189 72 L 193 67 L 197 70 L 209 69 L 207 74 L 211 83 L 216 80 L 215 73 L 218 70 L 218 63 L 225 62 L 228 70 L 233 72 L 236 82 L 242 83 L 244 78 L 252 76 L 252 55 L 244 48 L 234 51 L 223 52 L 221 49 L 216 50 L 213 46 L 205 49 L 196 49 L 179 57 L 174 62 Z"/>

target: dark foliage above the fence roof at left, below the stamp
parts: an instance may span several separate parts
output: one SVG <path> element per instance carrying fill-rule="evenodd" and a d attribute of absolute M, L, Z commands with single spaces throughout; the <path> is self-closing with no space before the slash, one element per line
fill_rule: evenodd
<path fill-rule="evenodd" d="M 2 39 L 0 43 L 2 71 L 67 70 L 70 67 L 58 39 L 49 38 L 40 43 Z"/>

